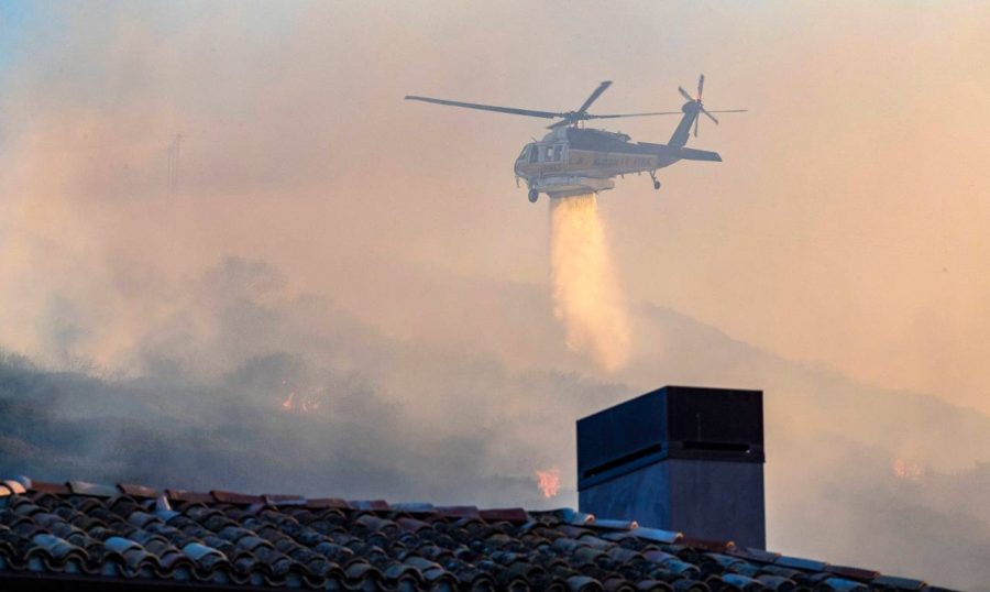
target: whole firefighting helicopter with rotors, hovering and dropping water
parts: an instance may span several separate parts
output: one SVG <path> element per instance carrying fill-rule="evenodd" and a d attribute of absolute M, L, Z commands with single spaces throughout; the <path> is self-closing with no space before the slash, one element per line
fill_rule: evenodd
<path fill-rule="evenodd" d="M 718 120 L 712 113 L 743 113 L 747 111 L 747 109 L 714 111 L 705 109 L 702 102 L 705 75 L 702 74 L 697 79 L 697 95 L 694 97 L 684 90 L 683 87 L 678 87 L 681 96 L 688 99 L 688 102 L 681 107 L 680 111 L 620 114 L 588 113 L 588 107 L 609 86 L 612 86 L 610 80 L 601 83 L 581 107 L 574 111 L 561 112 L 479 105 L 415 95 L 407 95 L 405 98 L 406 100 L 449 107 L 559 119 L 560 121 L 551 123 L 547 128 L 550 130 L 550 133 L 540 141 L 526 144 L 516 158 L 516 185 L 518 186 L 519 179 L 526 182 L 529 188 L 530 202 L 536 202 L 541 193 L 547 194 L 550 198 L 560 198 L 605 191 L 615 187 L 614 177 L 631 173 L 649 173 L 650 178 L 653 180 L 653 188 L 659 189 L 660 182 L 657 179 L 657 171 L 659 168 L 670 166 L 678 161 L 722 162 L 722 156 L 716 152 L 686 147 L 692 125 L 694 127 L 694 136 L 697 136 L 698 117 L 701 114 L 706 116 L 718 124 Z M 667 144 L 634 143 L 628 134 L 584 127 L 585 121 L 593 119 L 672 114 L 682 114 L 683 117 Z"/>

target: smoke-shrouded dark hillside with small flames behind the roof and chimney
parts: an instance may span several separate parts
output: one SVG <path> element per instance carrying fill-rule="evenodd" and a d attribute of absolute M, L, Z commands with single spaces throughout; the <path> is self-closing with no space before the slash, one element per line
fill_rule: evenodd
<path fill-rule="evenodd" d="M 525 305 L 504 317 L 514 326 L 525 310 L 549 306 L 535 286 L 446 289 Z M 490 354 L 389 338 L 324 298 L 292 296 L 258 262 L 226 260 L 180 290 L 197 297 L 145 332 L 132 352 L 134 377 L 2 361 L 0 471 L 575 505 L 575 418 L 667 382 L 755 386 L 767 393 L 771 548 L 967 590 L 986 590 L 990 578 L 978 557 L 990 541 L 990 507 L 967 494 L 990 479 L 979 463 L 990 420 L 974 412 L 803 368 L 653 306 L 632 318 L 649 342 L 664 336 L 676 347 L 634 357 L 627 381 L 615 384 L 510 371 Z M 53 315 L 73 320 L 67 310 Z M 529 335 L 557 339 L 548 320 Z M 561 490 L 547 500 L 538 471 L 553 469 Z"/>

